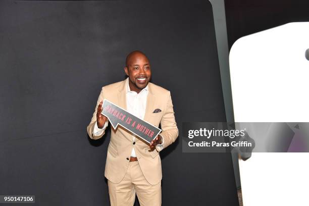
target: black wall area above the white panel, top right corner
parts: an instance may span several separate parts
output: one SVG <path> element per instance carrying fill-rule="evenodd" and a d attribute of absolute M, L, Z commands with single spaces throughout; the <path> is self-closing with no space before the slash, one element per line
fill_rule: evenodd
<path fill-rule="evenodd" d="M 307 0 L 225 0 L 229 47 L 242 36 L 309 21 Z"/>

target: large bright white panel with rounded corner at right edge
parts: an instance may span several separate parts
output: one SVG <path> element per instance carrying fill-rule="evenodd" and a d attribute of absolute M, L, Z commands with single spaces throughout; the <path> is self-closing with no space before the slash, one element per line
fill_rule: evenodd
<path fill-rule="evenodd" d="M 230 51 L 235 122 L 309 122 L 309 22 L 238 39 Z M 239 161 L 244 206 L 309 205 L 309 153 Z"/>

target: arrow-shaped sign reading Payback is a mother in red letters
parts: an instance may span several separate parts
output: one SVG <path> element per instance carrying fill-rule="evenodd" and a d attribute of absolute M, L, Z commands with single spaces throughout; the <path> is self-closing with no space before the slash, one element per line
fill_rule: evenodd
<path fill-rule="evenodd" d="M 162 131 L 158 127 L 155 127 L 148 122 L 139 119 L 138 117 L 118 107 L 107 99 L 104 99 L 102 107 L 103 110 L 101 114 L 109 119 L 112 127 L 115 130 L 117 129 L 118 125 L 121 125 L 149 144 Z"/>

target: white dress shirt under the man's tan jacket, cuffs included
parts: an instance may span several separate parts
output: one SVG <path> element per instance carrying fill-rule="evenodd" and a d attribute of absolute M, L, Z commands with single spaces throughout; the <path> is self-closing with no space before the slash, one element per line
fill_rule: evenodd
<path fill-rule="evenodd" d="M 131 91 L 129 86 L 129 78 L 126 79 L 126 104 L 127 104 L 127 111 L 132 115 L 144 119 L 146 105 L 147 105 L 147 95 L 148 95 L 148 85 L 143 88 L 139 93 L 136 91 Z M 102 129 L 97 127 L 95 122 L 93 134 L 100 135 L 105 128 L 108 126 L 108 120 L 106 121 L 105 125 Z M 133 141 L 135 140 L 135 135 L 133 134 Z M 162 144 L 157 144 L 156 149 L 157 151 L 161 151 L 164 145 L 164 138 L 162 137 Z M 136 153 L 134 147 L 132 148 L 131 157 L 136 157 Z"/>

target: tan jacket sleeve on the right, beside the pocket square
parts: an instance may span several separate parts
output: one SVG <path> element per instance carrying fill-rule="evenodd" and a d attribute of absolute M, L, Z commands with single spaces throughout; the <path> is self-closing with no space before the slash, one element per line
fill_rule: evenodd
<path fill-rule="evenodd" d="M 167 106 L 165 113 L 161 119 L 161 129 L 160 135 L 164 138 L 164 147 L 166 148 L 172 144 L 178 137 L 178 128 L 175 121 L 174 110 L 171 92 L 168 93 Z"/>

